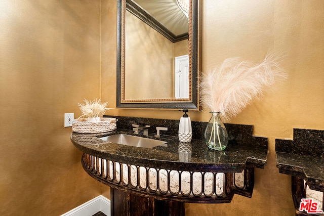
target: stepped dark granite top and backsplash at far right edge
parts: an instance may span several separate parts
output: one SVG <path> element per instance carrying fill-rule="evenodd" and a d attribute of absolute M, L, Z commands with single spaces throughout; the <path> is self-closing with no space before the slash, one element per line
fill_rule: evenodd
<path fill-rule="evenodd" d="M 279 172 L 306 180 L 324 192 L 324 131 L 294 129 L 293 140 L 275 141 Z"/>

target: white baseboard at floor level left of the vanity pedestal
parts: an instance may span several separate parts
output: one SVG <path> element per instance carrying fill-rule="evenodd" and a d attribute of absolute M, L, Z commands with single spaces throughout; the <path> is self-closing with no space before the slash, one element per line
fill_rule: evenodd
<path fill-rule="evenodd" d="M 73 208 L 61 216 L 92 216 L 98 211 L 110 216 L 110 200 L 102 195 Z"/>

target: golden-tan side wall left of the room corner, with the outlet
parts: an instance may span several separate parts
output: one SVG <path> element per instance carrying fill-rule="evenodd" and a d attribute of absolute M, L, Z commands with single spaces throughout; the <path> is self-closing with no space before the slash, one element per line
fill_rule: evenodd
<path fill-rule="evenodd" d="M 0 1 L 0 26 L 0 215 L 60 215 L 101 194 L 64 127 L 100 98 L 100 1 Z"/>

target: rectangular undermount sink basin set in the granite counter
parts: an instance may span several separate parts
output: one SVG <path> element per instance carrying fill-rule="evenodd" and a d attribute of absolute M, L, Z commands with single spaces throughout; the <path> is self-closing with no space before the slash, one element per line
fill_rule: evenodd
<path fill-rule="evenodd" d="M 127 134 L 116 134 L 108 137 L 101 137 L 100 139 L 111 143 L 143 148 L 153 148 L 155 146 L 168 146 L 167 142 L 165 141 L 153 140 L 149 138 L 137 137 Z"/>

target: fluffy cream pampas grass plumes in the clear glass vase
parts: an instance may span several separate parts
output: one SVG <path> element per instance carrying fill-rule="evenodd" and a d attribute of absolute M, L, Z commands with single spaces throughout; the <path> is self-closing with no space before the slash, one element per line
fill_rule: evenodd
<path fill-rule="evenodd" d="M 224 121 L 229 120 L 275 82 L 287 78 L 280 59 L 272 54 L 260 64 L 240 58 L 224 60 L 201 77 L 201 103 L 212 112 L 220 112 Z"/>

